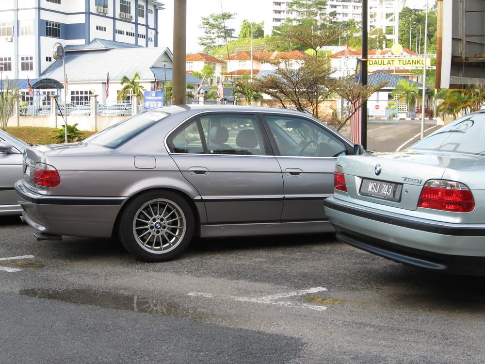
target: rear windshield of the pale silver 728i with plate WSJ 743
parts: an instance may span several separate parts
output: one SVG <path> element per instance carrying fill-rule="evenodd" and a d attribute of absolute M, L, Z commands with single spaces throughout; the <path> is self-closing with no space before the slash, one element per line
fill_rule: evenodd
<path fill-rule="evenodd" d="M 429 135 L 409 149 L 485 155 L 485 114 L 465 116 Z"/>

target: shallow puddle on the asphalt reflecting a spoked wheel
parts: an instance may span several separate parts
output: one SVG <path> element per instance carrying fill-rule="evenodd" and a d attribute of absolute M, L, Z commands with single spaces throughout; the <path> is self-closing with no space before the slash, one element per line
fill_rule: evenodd
<path fill-rule="evenodd" d="M 166 298 L 147 298 L 139 295 L 124 295 L 111 292 L 98 292 L 89 289 L 44 290 L 36 288 L 22 289 L 22 296 L 55 299 L 63 302 L 78 303 L 117 310 L 134 311 L 178 318 L 209 322 L 214 317 L 195 312 L 189 308 L 168 302 Z"/>

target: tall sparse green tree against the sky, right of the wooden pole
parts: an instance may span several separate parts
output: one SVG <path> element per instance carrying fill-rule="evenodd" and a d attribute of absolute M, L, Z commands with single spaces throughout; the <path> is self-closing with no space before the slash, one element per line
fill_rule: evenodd
<path fill-rule="evenodd" d="M 226 12 L 202 17 L 199 28 L 204 35 L 199 37 L 199 45 L 204 47 L 204 52 L 210 53 L 213 49 L 223 46 L 226 39 L 234 38 L 235 29 L 226 28 L 226 23 L 233 19 L 234 15 Z"/>

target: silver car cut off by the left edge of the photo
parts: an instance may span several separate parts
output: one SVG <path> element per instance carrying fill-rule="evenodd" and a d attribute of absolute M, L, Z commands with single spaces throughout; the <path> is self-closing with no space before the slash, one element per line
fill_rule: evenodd
<path fill-rule="evenodd" d="M 22 153 L 29 145 L 0 130 L 0 215 L 21 215 L 14 184 L 22 178 Z"/>

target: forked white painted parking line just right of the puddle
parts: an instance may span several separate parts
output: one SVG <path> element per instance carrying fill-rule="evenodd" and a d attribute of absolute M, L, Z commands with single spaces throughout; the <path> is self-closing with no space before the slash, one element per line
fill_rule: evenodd
<path fill-rule="evenodd" d="M 309 289 L 303 289 L 299 291 L 292 291 L 287 293 L 281 293 L 277 295 L 270 295 L 270 296 L 263 296 L 263 297 L 238 297 L 238 296 L 230 296 L 230 295 L 220 295 L 215 293 L 205 293 L 205 292 L 189 292 L 187 296 L 192 297 L 205 297 L 205 298 L 219 298 L 219 299 L 231 299 L 234 301 L 239 302 L 251 302 L 251 303 L 262 303 L 262 304 L 270 304 L 270 305 L 277 305 L 277 306 L 286 306 L 286 307 L 303 307 L 308 308 L 310 310 L 316 311 L 325 311 L 327 308 L 325 306 L 314 306 L 307 303 L 295 304 L 293 302 L 287 301 L 277 301 L 277 299 L 281 298 L 289 298 L 295 296 L 303 296 L 310 293 L 317 293 L 317 292 L 325 292 L 327 289 L 323 287 L 313 287 Z"/>

